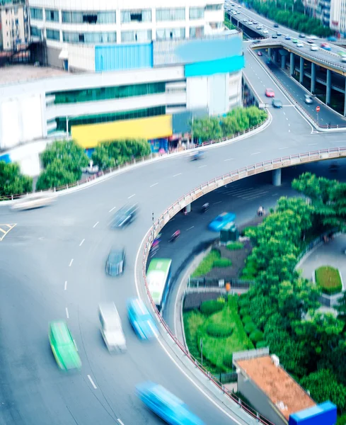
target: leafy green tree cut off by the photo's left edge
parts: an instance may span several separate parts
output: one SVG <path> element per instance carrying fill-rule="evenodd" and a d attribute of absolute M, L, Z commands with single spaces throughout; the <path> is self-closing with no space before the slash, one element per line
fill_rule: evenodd
<path fill-rule="evenodd" d="M 21 174 L 18 164 L 0 161 L 0 196 L 19 195 L 33 191 L 33 179 Z"/>

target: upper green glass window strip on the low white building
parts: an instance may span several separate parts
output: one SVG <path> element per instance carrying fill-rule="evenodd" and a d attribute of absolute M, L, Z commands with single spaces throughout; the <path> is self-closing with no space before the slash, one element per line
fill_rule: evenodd
<path fill-rule="evenodd" d="M 145 96 L 146 94 L 164 93 L 166 84 L 146 83 L 132 84 L 131 86 L 100 87 L 97 89 L 59 91 L 47 96 L 55 96 L 54 103 L 79 103 L 107 101 L 110 99 L 127 98 L 132 96 Z"/>

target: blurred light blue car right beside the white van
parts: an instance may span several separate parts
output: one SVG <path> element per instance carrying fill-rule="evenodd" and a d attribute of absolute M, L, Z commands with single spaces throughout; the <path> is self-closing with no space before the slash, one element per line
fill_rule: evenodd
<path fill-rule="evenodd" d="M 139 298 L 127 302 L 129 322 L 140 339 L 152 339 L 158 334 L 154 319 L 151 317 L 146 305 Z"/>

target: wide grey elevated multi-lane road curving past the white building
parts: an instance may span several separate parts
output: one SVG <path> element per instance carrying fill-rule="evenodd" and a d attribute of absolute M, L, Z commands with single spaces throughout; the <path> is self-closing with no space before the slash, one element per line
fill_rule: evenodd
<path fill-rule="evenodd" d="M 248 58 L 253 86 L 263 96 L 275 87 L 255 58 Z M 161 338 L 142 344 L 126 317 L 126 300 L 137 296 L 138 249 L 155 217 L 202 181 L 241 166 L 298 152 L 345 145 L 340 134 L 312 134 L 311 125 L 282 95 L 263 132 L 209 149 L 200 162 L 188 155 L 144 164 L 85 190 L 59 197 L 50 208 L 11 212 L 0 208 L 0 424 L 159 424 L 135 397 L 134 386 L 154 380 L 188 403 L 205 424 L 252 424 L 232 413 L 195 382 Z M 127 202 L 140 206 L 124 231 L 110 229 Z M 1 206 L 1 205 L 0 205 Z M 9 225 L 10 227 L 8 227 Z M 110 246 L 125 246 L 120 278 L 105 276 Z M 98 303 L 114 300 L 123 319 L 128 351 L 110 356 L 98 329 Z M 60 373 L 50 351 L 48 323 L 67 319 L 79 346 L 81 373 Z M 233 418 L 233 419 L 232 419 Z"/>

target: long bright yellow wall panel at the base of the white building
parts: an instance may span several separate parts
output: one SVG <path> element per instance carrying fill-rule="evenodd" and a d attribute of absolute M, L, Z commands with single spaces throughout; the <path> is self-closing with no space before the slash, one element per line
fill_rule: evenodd
<path fill-rule="evenodd" d="M 172 135 L 172 115 L 114 121 L 113 123 L 72 125 L 72 139 L 84 149 L 100 142 L 121 139 L 159 139 Z"/>

